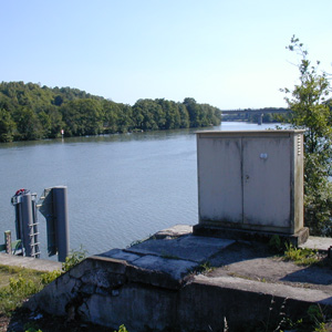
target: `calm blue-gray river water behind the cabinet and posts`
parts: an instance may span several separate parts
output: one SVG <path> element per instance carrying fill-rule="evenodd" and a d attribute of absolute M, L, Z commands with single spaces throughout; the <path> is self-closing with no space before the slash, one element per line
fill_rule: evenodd
<path fill-rule="evenodd" d="M 203 131 L 274 126 L 225 122 Z M 82 245 L 89 255 L 124 248 L 176 224 L 197 224 L 195 132 L 0 144 L 0 243 L 3 231 L 14 234 L 10 199 L 20 188 L 40 197 L 44 188 L 68 186 L 71 248 Z M 42 258 L 46 258 L 41 214 L 39 222 Z"/>

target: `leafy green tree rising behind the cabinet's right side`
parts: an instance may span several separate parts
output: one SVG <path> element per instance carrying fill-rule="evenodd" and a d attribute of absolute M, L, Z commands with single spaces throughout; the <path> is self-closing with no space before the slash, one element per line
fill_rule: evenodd
<path fill-rule="evenodd" d="M 332 185 L 329 181 L 332 159 L 332 117 L 329 107 L 330 82 L 312 65 L 308 51 L 293 37 L 288 49 L 301 56 L 299 83 L 283 89 L 292 113 L 288 117 L 293 128 L 304 133 L 304 220 L 311 235 L 332 235 Z"/>

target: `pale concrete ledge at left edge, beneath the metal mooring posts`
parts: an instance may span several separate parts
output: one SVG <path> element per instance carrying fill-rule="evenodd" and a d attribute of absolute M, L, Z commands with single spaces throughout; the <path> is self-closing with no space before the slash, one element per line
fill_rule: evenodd
<path fill-rule="evenodd" d="M 32 257 L 14 256 L 8 253 L 0 253 L 0 264 L 21 267 L 38 271 L 54 271 L 62 269 L 62 263 L 58 261 L 38 259 Z"/>

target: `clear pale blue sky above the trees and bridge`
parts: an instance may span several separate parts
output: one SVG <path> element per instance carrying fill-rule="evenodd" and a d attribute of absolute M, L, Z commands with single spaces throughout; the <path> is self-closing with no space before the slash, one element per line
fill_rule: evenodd
<path fill-rule="evenodd" d="M 332 73 L 331 0 L 0 0 L 0 81 L 70 86 L 117 103 L 194 97 L 283 107 L 300 58 Z"/>

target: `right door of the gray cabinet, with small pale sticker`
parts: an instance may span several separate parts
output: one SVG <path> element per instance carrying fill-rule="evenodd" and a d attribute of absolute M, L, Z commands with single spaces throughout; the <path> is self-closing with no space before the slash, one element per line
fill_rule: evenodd
<path fill-rule="evenodd" d="M 291 193 L 289 137 L 245 138 L 243 224 L 288 227 Z"/>

